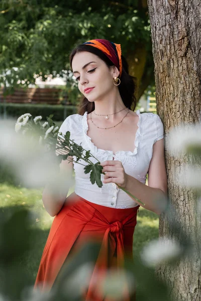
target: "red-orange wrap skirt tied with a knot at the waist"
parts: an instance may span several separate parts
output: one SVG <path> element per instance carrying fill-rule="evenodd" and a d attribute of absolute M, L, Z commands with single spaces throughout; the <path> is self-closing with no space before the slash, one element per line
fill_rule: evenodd
<path fill-rule="evenodd" d="M 93 273 L 100 269 L 106 271 L 113 256 L 117 267 L 123 267 L 125 255 L 133 256 L 139 207 L 116 209 L 91 203 L 75 193 L 68 196 L 53 220 L 34 288 L 50 290 L 72 247 L 76 249 L 87 239 L 101 242 Z M 94 297 L 93 282 L 90 281 L 84 300 L 105 300 L 100 295 Z"/>

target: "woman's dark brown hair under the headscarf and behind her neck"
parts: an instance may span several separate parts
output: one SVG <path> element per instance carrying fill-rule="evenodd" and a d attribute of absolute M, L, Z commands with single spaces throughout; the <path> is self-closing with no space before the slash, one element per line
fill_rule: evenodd
<path fill-rule="evenodd" d="M 107 66 L 110 68 L 111 66 L 114 66 L 113 62 L 103 53 L 103 51 L 92 47 L 90 45 L 78 45 L 75 49 L 72 50 L 69 56 L 70 66 L 72 69 L 72 59 L 74 55 L 78 52 L 87 51 L 92 54 L 95 54 L 100 59 L 102 59 Z M 129 75 L 128 71 L 128 63 L 125 59 L 125 57 L 122 55 L 122 76 L 121 76 L 121 83 L 118 86 L 119 92 L 122 98 L 122 101 L 124 102 L 125 106 L 129 109 L 131 109 L 131 106 L 133 105 L 135 110 L 136 107 L 136 97 L 134 95 L 136 91 L 136 78 Z M 87 111 L 89 114 L 95 109 L 94 101 L 90 102 L 88 99 L 84 96 L 83 99 L 78 104 L 78 114 L 84 115 L 84 113 Z"/>

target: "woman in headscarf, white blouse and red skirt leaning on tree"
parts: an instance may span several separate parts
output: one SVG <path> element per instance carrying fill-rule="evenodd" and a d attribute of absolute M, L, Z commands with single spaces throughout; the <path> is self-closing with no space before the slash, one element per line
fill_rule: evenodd
<path fill-rule="evenodd" d="M 163 124 L 156 114 L 131 110 L 136 105 L 135 83 L 121 45 L 103 39 L 85 42 L 72 51 L 70 64 L 84 98 L 79 113 L 68 116 L 59 131 L 69 130 L 71 139 L 90 149 L 106 175 L 98 188 L 82 165 L 63 161 L 61 171 L 75 171 L 74 193 L 66 199 L 68 187 L 55 199 L 51 187 L 45 187 L 44 207 L 55 218 L 35 283 L 43 290 L 54 284 L 69 252 L 87 239 L 102 242 L 94 273 L 100 266 L 122 265 L 125 255 L 132 256 L 140 204 L 116 184 L 157 214 L 165 208 L 162 200 L 167 192 Z M 104 300 L 93 283 L 89 283 L 85 300 Z"/>

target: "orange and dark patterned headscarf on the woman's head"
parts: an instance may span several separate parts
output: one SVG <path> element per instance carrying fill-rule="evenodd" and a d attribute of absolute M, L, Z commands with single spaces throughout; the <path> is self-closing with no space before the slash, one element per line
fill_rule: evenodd
<path fill-rule="evenodd" d="M 85 43 L 84 45 L 93 46 L 98 48 L 99 50 L 103 51 L 105 55 L 113 62 L 113 64 L 119 69 L 120 76 L 122 75 L 122 50 L 121 44 L 115 44 L 108 40 L 104 39 L 95 39 L 90 40 Z"/>

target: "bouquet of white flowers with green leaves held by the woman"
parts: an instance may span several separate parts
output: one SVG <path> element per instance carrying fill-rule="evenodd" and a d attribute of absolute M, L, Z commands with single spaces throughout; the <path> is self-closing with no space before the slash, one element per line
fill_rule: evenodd
<path fill-rule="evenodd" d="M 16 122 L 15 131 L 21 132 L 23 135 L 33 135 L 38 136 L 38 143 L 40 145 L 44 145 L 47 151 L 53 151 L 55 156 L 57 157 L 58 164 L 62 162 L 62 160 L 68 160 L 69 162 L 74 162 L 80 165 L 83 165 L 80 160 L 83 160 L 87 165 L 84 166 L 84 173 L 90 173 L 90 182 L 91 184 L 96 183 L 99 188 L 103 186 L 102 181 L 100 180 L 103 166 L 100 165 L 100 162 L 90 153 L 90 150 L 86 150 L 82 147 L 81 143 L 78 145 L 74 142 L 74 140 L 70 139 L 70 132 L 67 131 L 65 135 L 59 132 L 58 126 L 52 120 L 53 115 L 46 117 L 47 121 L 45 121 L 42 125 L 40 121 L 42 116 L 32 117 L 30 113 L 26 113 L 21 115 Z M 75 159 L 74 159 L 74 158 Z M 94 164 L 90 161 L 89 158 L 93 157 L 97 162 Z M 129 193 L 125 188 L 116 184 L 119 189 L 125 191 L 132 198 L 136 199 L 142 205 L 139 199 Z"/>

